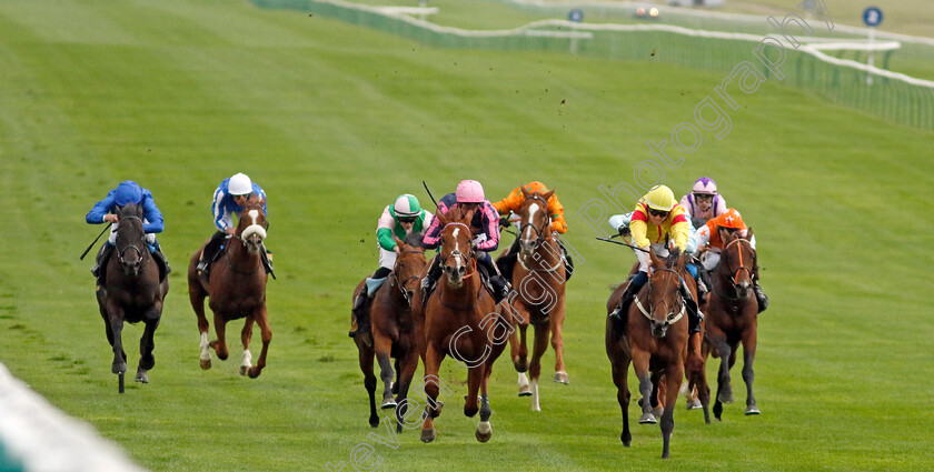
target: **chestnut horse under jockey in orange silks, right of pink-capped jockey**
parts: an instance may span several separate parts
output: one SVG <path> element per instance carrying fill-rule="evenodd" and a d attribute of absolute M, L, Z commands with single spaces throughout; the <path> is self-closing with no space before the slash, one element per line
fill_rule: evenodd
<path fill-rule="evenodd" d="M 519 253 L 513 269 L 516 292 L 507 299 L 515 310 L 517 333 L 509 338 L 513 365 L 518 372 L 519 396 L 531 395 L 531 410 L 541 411 L 538 401 L 538 379 L 541 356 L 548 349 L 548 337 L 555 350 L 555 382 L 568 383 L 564 363 L 565 272 L 564 258 L 558 241 L 552 233 L 548 199 L 555 193 L 530 193 L 521 187 L 525 201 L 519 209 Z M 535 327 L 531 362 L 528 362 L 526 330 Z M 528 371 L 528 375 L 526 375 Z M 529 376 L 531 385 L 529 385 Z"/>

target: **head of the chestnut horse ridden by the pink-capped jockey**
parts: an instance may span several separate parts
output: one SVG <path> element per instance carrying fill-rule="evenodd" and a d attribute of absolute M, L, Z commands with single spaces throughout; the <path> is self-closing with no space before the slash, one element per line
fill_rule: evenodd
<path fill-rule="evenodd" d="M 448 214 L 438 214 L 438 222 L 441 230 L 441 247 L 438 255 L 447 275 L 448 285 L 460 288 L 464 279 L 477 271 L 477 261 L 474 259 L 474 232 L 470 230 L 470 221 L 474 218 L 474 210 L 463 210 L 454 207 Z"/>

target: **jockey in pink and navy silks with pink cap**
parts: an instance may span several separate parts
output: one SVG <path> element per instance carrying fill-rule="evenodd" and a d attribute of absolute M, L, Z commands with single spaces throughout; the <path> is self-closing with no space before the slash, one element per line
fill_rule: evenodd
<path fill-rule="evenodd" d="M 489 282 L 493 285 L 493 297 L 497 303 L 506 298 L 509 293 L 509 284 L 506 279 L 499 274 L 496 264 L 489 257 L 489 252 L 496 251 L 499 247 L 499 217 L 493 204 L 484 197 L 484 187 L 476 180 L 461 180 L 457 184 L 455 193 L 448 193 L 438 201 L 438 210 L 431 225 L 421 240 L 421 245 L 426 249 L 437 249 L 441 244 L 441 227 L 437 214 L 447 214 L 453 208 L 461 208 L 466 210 L 476 209 L 474 219 L 470 221 L 470 231 L 474 232 L 475 251 L 474 257 L 477 258 L 477 268 L 486 271 L 489 275 Z M 423 302 L 428 301 L 428 295 L 441 277 L 441 263 L 437 254 L 430 262 L 430 270 L 428 275 L 421 280 Z"/>

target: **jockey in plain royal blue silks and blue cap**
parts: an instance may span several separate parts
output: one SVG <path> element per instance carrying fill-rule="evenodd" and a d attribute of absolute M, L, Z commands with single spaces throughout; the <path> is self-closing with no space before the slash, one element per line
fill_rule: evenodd
<path fill-rule="evenodd" d="M 95 259 L 95 267 L 91 269 L 91 273 L 96 278 L 103 278 L 105 271 L 101 269 L 107 267 L 107 262 L 113 253 L 113 248 L 117 245 L 117 227 L 120 225 L 120 220 L 117 217 L 117 208 L 130 203 L 142 207 L 142 231 L 146 233 L 146 245 L 149 248 L 149 252 L 152 253 L 152 257 L 159 263 L 166 267 L 165 275 L 171 272 L 169 261 L 166 260 L 166 254 L 162 253 L 162 248 L 159 245 L 159 241 L 156 240 L 156 233 L 162 232 L 166 225 L 162 222 L 162 213 L 156 207 L 156 201 L 152 199 L 152 192 L 139 187 L 132 180 L 127 180 L 120 182 L 116 189 L 108 192 L 103 200 L 95 203 L 95 207 L 85 217 L 85 220 L 89 224 L 113 223 L 110 227 L 110 237 L 100 248 L 100 251 L 98 251 L 97 258 Z"/>

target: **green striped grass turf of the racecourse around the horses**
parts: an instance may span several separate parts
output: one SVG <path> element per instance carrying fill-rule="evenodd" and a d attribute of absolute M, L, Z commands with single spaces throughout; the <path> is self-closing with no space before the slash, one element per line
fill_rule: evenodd
<path fill-rule="evenodd" d="M 728 71 L 435 50 L 232 0 L 4 1 L 0 57 L 0 361 L 147 468 L 327 470 L 360 443 L 375 445 L 384 470 L 934 464 L 932 133 L 767 82 L 738 97 L 726 138 L 705 133 L 680 168 L 663 165 L 678 194 L 702 174 L 717 179 L 758 234 L 772 298 L 756 359 L 763 415 L 743 416 L 734 369 L 737 404 L 724 422 L 705 425 L 679 403 L 663 462 L 657 426 L 633 424 L 633 446 L 619 443 L 603 348 L 607 284 L 634 258 L 594 241 L 576 210 L 600 197 L 598 185 L 630 182 L 636 163 L 652 158 L 645 142 L 690 120 Z M 279 275 L 269 284 L 274 339 L 258 380 L 236 373 L 236 343 L 231 360 L 198 368 L 183 278 L 212 231 L 211 192 L 237 171 L 269 193 Z M 389 449 L 367 435 L 346 337 L 350 292 L 376 268 L 381 208 L 403 192 L 427 203 L 423 179 L 440 195 L 464 178 L 481 180 L 494 198 L 533 179 L 557 188 L 567 240 L 584 255 L 567 299 L 572 383 L 550 382 L 546 354 L 544 411 L 533 413 L 500 360 L 494 436 L 479 444 L 477 420 L 460 413 L 466 372 L 448 360 L 441 379 L 454 393 L 438 439 L 425 445 L 407 431 Z M 85 213 L 125 179 L 155 192 L 176 272 L 151 383 L 118 395 L 91 262 L 78 255 L 100 230 Z M 125 342 L 132 347 L 141 331 L 126 329 Z"/>

